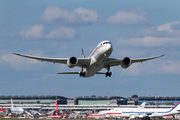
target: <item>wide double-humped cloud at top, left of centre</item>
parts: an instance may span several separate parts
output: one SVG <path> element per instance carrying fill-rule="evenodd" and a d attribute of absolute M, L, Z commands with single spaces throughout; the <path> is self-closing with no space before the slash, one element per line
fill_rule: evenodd
<path fill-rule="evenodd" d="M 62 10 L 59 7 L 48 7 L 40 20 L 44 23 L 52 23 L 54 21 L 60 21 L 62 23 L 70 24 L 89 24 L 97 22 L 99 15 L 95 10 L 89 10 L 85 8 L 77 8 L 72 12 Z"/>

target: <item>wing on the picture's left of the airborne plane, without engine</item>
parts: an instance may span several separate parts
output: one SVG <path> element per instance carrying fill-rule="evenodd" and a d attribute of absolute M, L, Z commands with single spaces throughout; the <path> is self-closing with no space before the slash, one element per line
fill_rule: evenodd
<path fill-rule="evenodd" d="M 46 57 L 38 57 L 38 56 L 30 56 L 30 55 L 23 55 L 19 53 L 13 53 L 14 55 L 30 58 L 30 59 L 35 59 L 39 60 L 41 62 L 46 61 L 46 62 L 52 62 L 52 63 L 61 63 L 61 64 L 67 64 L 67 61 L 69 58 L 46 58 Z M 90 64 L 90 59 L 89 58 L 77 58 L 78 63 L 76 66 L 82 67 L 84 66 L 89 66 Z"/>

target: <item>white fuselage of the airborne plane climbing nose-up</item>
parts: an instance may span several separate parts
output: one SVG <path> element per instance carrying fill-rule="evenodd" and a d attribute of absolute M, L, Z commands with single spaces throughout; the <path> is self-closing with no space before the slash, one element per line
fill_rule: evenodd
<path fill-rule="evenodd" d="M 101 42 L 89 56 L 91 59 L 90 66 L 83 68 L 83 72 L 86 73 L 84 77 L 91 77 L 96 74 L 96 72 L 100 71 L 104 67 L 105 60 L 108 59 L 112 51 L 113 47 L 109 41 Z"/>

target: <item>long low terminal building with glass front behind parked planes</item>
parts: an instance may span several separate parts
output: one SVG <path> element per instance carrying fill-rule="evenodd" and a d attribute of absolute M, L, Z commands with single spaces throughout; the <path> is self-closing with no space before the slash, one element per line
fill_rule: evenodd
<path fill-rule="evenodd" d="M 76 98 L 66 98 L 63 96 L 0 96 L 0 106 L 5 109 L 11 107 L 11 99 L 14 107 L 24 109 L 51 110 L 56 107 L 60 110 L 107 110 L 115 107 L 137 107 L 146 102 L 147 107 L 173 107 L 180 101 L 180 97 L 139 97 L 124 98 L 120 96 L 80 96 Z"/>

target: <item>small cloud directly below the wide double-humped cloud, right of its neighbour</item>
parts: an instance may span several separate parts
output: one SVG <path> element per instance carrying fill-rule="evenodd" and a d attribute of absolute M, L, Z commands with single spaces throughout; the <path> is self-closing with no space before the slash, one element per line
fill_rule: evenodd
<path fill-rule="evenodd" d="M 53 29 L 48 35 L 47 39 L 70 39 L 75 36 L 76 31 L 73 28 L 59 27 Z"/>

